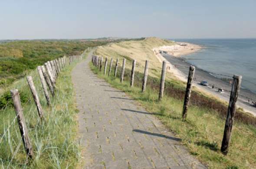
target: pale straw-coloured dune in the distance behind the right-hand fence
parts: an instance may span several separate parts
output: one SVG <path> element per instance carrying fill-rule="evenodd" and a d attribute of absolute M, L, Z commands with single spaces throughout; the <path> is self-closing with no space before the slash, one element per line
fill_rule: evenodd
<path fill-rule="evenodd" d="M 175 42 L 163 40 L 159 38 L 146 38 L 139 41 L 125 41 L 118 43 L 110 43 L 105 46 L 98 47 L 95 51 L 96 55 L 107 56 L 108 58 L 126 58 L 126 64 L 131 66 L 132 60 L 136 60 L 136 70 L 143 71 L 145 60 L 149 60 L 149 75 L 160 75 L 162 63 L 155 57 L 153 48 L 158 46 L 172 46 Z M 121 61 L 120 61 L 121 64 Z"/>

